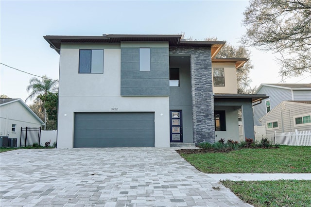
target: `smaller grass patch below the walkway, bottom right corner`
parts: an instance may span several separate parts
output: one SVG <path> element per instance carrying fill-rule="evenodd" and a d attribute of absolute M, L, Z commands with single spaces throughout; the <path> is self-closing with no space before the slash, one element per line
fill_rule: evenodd
<path fill-rule="evenodd" d="M 222 181 L 244 202 L 255 207 L 310 207 L 311 180 Z"/>

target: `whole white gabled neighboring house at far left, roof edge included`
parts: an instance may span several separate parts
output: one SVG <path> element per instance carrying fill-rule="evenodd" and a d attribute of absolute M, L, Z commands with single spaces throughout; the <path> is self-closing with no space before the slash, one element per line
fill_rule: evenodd
<path fill-rule="evenodd" d="M 17 138 L 20 143 L 21 127 L 41 127 L 44 122 L 21 99 L 0 99 L 0 134 Z"/>

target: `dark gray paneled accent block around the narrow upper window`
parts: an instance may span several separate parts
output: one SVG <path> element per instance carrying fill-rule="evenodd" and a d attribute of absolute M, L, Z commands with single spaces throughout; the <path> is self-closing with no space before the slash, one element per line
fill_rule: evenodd
<path fill-rule="evenodd" d="M 169 96 L 169 49 L 150 48 L 150 71 L 139 71 L 139 48 L 121 48 L 121 96 Z"/>

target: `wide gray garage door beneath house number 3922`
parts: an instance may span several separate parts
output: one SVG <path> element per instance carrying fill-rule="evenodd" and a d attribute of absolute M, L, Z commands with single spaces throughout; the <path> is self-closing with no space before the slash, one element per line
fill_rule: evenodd
<path fill-rule="evenodd" d="M 73 147 L 154 147 L 155 113 L 75 113 Z"/>

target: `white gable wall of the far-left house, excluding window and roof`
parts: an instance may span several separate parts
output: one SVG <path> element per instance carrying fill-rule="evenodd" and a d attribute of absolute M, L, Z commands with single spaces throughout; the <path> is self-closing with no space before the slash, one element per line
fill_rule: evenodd
<path fill-rule="evenodd" d="M 17 147 L 20 143 L 21 127 L 40 127 L 41 123 L 20 102 L 1 105 L 0 107 L 0 134 L 9 138 L 17 138 Z M 16 124 L 12 132 L 12 124 Z"/>

